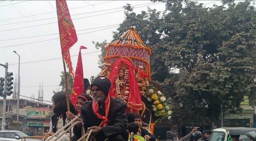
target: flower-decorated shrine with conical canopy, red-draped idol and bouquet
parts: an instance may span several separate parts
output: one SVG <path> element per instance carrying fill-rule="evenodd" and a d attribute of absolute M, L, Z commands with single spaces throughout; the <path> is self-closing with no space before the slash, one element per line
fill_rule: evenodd
<path fill-rule="evenodd" d="M 100 76 L 111 81 L 109 95 L 127 103 L 127 113 L 141 114 L 147 123 L 168 117 L 171 111 L 163 89 L 150 77 L 151 49 L 133 27 L 106 46 Z"/>

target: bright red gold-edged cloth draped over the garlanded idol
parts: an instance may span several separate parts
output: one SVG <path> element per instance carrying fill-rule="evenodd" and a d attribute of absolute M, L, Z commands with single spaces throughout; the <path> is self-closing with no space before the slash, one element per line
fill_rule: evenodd
<path fill-rule="evenodd" d="M 124 63 L 128 70 L 129 70 L 129 96 L 127 100 L 127 112 L 136 113 L 139 110 L 142 109 L 142 101 L 141 101 L 141 94 L 139 91 L 138 82 L 136 80 L 135 74 L 134 74 L 134 66 L 131 61 L 129 61 L 127 58 L 119 58 L 114 62 L 114 64 L 111 66 L 110 76 L 109 80 L 111 82 L 111 87 L 109 91 L 109 96 L 112 98 L 117 98 L 116 91 L 115 91 L 115 79 L 118 76 L 119 69 L 121 67 L 121 63 Z"/>

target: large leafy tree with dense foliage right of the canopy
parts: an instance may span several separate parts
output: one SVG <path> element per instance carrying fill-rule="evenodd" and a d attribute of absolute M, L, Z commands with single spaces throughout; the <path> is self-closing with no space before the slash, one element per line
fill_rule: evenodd
<path fill-rule="evenodd" d="M 213 8 L 195 1 L 158 1 L 166 4 L 162 13 L 148 8 L 135 14 L 127 4 L 113 37 L 133 26 L 150 47 L 152 80 L 170 96 L 171 122 L 209 125 L 220 117 L 220 104 L 224 111 L 239 112 L 255 85 L 256 9 L 251 1 L 223 1 Z"/>

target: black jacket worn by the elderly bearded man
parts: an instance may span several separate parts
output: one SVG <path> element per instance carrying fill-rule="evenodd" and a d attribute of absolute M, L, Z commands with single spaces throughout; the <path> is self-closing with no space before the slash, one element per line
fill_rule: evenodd
<path fill-rule="evenodd" d="M 128 140 L 128 133 L 126 130 L 127 116 L 125 115 L 126 108 L 127 105 L 124 100 L 120 98 L 110 98 L 109 115 L 107 117 L 109 119 L 109 123 L 107 126 L 101 127 L 102 130 L 96 135 L 97 141 L 104 141 L 108 137 L 111 138 L 111 136 L 122 137 L 125 140 L 127 138 Z M 105 103 L 102 104 L 102 107 L 100 107 L 99 105 L 99 114 L 106 115 Z M 99 126 L 102 122 L 102 119 L 97 118 L 97 116 L 93 113 L 92 101 L 86 102 L 81 107 L 81 118 L 84 123 L 83 127 L 85 128 L 85 131 L 88 127 Z M 81 129 L 79 129 L 78 127 L 74 127 L 74 134 L 77 136 L 81 136 Z"/>

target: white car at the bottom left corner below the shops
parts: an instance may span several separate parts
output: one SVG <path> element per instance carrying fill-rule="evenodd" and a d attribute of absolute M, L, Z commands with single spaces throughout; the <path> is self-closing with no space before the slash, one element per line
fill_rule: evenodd
<path fill-rule="evenodd" d="M 18 130 L 0 130 L 0 141 L 21 141 L 22 137 L 28 135 Z M 26 141 L 43 141 L 38 138 L 26 138 Z"/>

